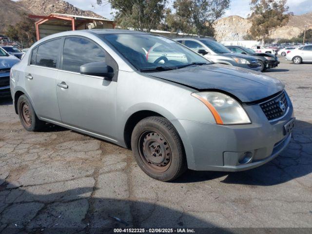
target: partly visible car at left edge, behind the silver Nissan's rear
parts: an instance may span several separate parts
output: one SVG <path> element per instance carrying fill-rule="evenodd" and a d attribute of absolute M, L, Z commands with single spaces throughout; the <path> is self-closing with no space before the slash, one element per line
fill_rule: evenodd
<path fill-rule="evenodd" d="M 10 70 L 20 59 L 0 48 L 0 97 L 10 97 Z"/>

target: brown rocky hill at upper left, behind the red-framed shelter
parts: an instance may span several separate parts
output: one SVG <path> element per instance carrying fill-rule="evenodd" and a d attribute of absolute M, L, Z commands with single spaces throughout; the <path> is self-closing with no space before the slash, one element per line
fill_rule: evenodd
<path fill-rule="evenodd" d="M 51 13 L 61 13 L 103 18 L 92 11 L 83 11 L 62 0 L 20 0 L 16 2 L 0 0 L 0 6 L 0 32 L 3 32 L 7 25 L 19 22 L 22 14 L 47 16 Z"/>

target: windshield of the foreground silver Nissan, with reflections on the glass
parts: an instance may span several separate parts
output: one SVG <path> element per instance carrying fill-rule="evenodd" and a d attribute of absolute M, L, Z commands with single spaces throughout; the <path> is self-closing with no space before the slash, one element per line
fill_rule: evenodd
<path fill-rule="evenodd" d="M 210 61 L 165 37 L 148 34 L 102 34 L 138 70 L 182 68 Z"/>

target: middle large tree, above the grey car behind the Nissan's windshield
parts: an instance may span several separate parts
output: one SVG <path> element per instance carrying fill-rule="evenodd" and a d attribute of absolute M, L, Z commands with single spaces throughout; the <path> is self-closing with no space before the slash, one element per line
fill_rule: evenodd
<path fill-rule="evenodd" d="M 175 0 L 175 14 L 166 17 L 173 30 L 213 36 L 213 23 L 230 7 L 230 0 Z"/>

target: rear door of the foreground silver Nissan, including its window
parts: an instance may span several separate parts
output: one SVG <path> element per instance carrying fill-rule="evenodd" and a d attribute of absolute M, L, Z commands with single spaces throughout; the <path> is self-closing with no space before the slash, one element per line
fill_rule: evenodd
<path fill-rule="evenodd" d="M 61 40 L 48 40 L 35 47 L 24 72 L 25 88 L 37 116 L 56 121 L 60 121 L 56 79 Z"/>

